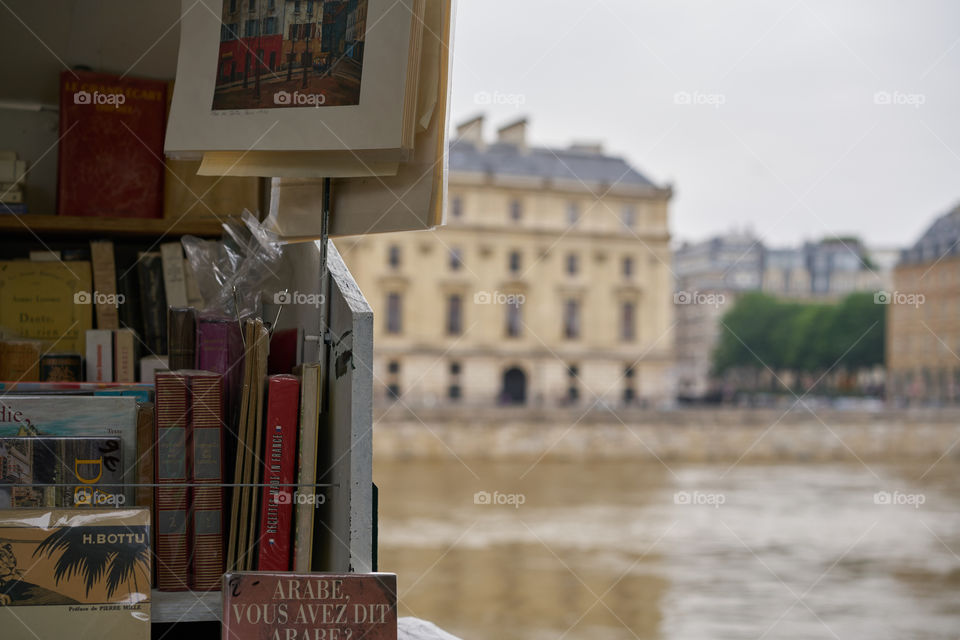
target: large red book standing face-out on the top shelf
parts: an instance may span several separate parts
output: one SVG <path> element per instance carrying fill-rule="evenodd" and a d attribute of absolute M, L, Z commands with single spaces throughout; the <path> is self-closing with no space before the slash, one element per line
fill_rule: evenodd
<path fill-rule="evenodd" d="M 62 72 L 57 212 L 163 217 L 166 109 L 165 82 Z"/>

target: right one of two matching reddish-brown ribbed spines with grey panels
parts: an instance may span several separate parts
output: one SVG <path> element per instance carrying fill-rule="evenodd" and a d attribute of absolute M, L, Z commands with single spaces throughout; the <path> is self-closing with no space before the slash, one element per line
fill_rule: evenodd
<path fill-rule="evenodd" d="M 190 377 L 188 449 L 193 551 L 191 586 L 217 591 L 223 576 L 223 388 L 218 375 Z"/>

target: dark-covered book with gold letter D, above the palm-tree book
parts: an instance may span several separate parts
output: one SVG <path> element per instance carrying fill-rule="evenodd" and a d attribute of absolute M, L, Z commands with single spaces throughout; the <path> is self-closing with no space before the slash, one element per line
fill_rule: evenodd
<path fill-rule="evenodd" d="M 123 507 L 122 456 L 119 438 L 0 437 L 0 509 Z"/>

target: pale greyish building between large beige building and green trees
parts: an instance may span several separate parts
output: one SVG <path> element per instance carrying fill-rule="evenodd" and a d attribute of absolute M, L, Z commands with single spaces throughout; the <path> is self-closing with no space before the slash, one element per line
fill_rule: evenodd
<path fill-rule="evenodd" d="M 710 367 L 723 330 L 721 318 L 741 293 L 760 289 L 763 259 L 763 245 L 751 234 L 688 243 L 674 252 L 674 335 L 680 398 L 703 398 L 717 391 L 711 385 Z"/>

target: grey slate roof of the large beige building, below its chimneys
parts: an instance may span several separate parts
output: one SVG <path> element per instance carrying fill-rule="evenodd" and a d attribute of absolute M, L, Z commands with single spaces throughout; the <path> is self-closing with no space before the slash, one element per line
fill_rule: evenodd
<path fill-rule="evenodd" d="M 656 188 L 623 158 L 589 151 L 544 147 L 521 150 L 504 143 L 478 149 L 460 138 L 450 143 L 449 159 L 451 171 Z"/>

